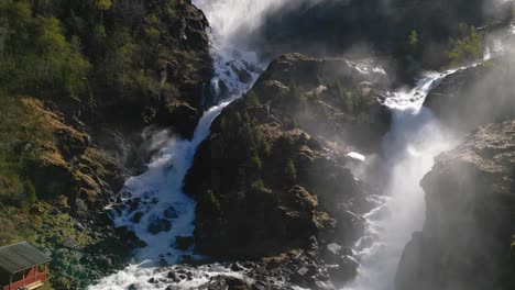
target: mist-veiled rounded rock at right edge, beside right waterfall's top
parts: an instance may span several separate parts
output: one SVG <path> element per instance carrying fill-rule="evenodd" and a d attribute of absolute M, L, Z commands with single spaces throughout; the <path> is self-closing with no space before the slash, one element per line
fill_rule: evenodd
<path fill-rule="evenodd" d="M 489 60 L 446 77 L 424 103 L 450 129 L 469 132 L 515 116 L 515 63 L 511 56 Z"/>

